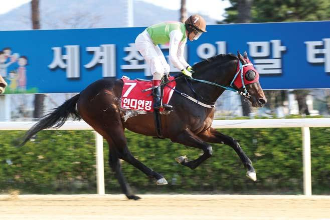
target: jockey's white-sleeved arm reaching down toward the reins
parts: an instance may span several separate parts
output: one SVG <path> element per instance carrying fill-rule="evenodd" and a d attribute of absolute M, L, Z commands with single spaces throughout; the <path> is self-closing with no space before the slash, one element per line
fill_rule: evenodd
<path fill-rule="evenodd" d="M 186 68 L 178 58 L 178 53 L 181 47 L 181 40 L 183 38 L 183 34 L 179 30 L 172 31 L 170 33 L 170 52 L 169 52 L 169 59 L 172 64 L 178 68 L 178 70 L 183 70 Z M 182 52 L 183 53 L 183 52 Z"/>

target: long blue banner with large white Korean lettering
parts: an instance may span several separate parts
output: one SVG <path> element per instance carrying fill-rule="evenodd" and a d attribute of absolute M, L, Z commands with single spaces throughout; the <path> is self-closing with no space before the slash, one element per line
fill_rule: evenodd
<path fill-rule="evenodd" d="M 150 78 L 134 47 L 144 29 L 2 31 L 6 93 L 80 92 L 102 77 Z M 330 88 L 330 22 L 209 25 L 207 31 L 187 43 L 191 65 L 247 51 L 263 89 Z M 168 46 L 160 48 L 168 59 Z"/>

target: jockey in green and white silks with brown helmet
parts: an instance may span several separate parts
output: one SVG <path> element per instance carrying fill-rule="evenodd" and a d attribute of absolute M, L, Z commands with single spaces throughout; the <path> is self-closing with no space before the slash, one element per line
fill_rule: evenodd
<path fill-rule="evenodd" d="M 170 46 L 169 59 L 172 64 L 188 77 L 192 77 L 193 69 L 184 58 L 184 50 L 187 38 L 190 41 L 197 40 L 203 32 L 206 32 L 206 22 L 199 15 L 190 16 L 185 24 L 181 22 L 164 22 L 152 25 L 139 34 L 135 40 L 135 47 L 149 65 L 152 77 L 152 85 L 156 87 L 152 91 L 153 109 L 164 107 L 171 110 L 172 106 L 162 104 L 160 101 L 160 80 L 162 76 L 170 73 L 170 66 L 166 62 L 158 44 Z"/>

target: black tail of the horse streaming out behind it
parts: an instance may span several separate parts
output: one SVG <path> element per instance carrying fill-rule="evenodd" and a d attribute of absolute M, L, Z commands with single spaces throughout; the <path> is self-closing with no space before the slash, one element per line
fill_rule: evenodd
<path fill-rule="evenodd" d="M 74 120 L 80 120 L 81 118 L 75 110 L 79 95 L 80 94 L 77 94 L 71 99 L 68 99 L 61 106 L 57 107 L 55 111 L 42 117 L 37 124 L 25 133 L 21 146 L 23 146 L 33 135 L 41 130 L 51 127 L 61 127 L 70 115 L 73 116 Z"/>

